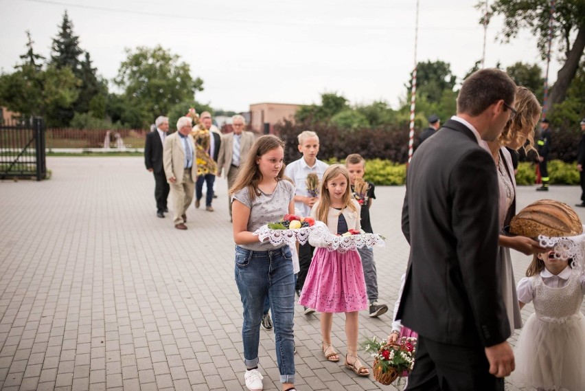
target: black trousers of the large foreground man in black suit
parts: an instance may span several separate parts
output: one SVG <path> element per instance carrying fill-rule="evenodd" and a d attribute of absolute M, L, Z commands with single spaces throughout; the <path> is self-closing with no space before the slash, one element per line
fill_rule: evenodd
<path fill-rule="evenodd" d="M 504 379 L 490 375 L 483 346 L 442 344 L 418 336 L 408 391 L 504 391 Z"/>

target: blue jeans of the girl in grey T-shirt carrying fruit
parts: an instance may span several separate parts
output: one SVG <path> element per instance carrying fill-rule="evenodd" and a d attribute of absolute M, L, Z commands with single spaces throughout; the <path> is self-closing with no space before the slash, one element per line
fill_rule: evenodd
<path fill-rule="evenodd" d="M 244 306 L 244 364 L 258 365 L 260 323 L 266 296 L 270 298 L 281 383 L 295 383 L 295 275 L 288 246 L 251 251 L 236 245 L 236 284 Z"/>

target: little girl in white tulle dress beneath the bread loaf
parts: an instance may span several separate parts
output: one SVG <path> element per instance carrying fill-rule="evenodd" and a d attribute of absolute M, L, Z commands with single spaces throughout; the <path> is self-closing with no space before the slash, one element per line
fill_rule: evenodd
<path fill-rule="evenodd" d="M 534 313 L 516 342 L 512 379 L 538 390 L 585 390 L 585 277 L 571 262 L 535 255 L 518 282 L 520 308 L 532 301 Z"/>

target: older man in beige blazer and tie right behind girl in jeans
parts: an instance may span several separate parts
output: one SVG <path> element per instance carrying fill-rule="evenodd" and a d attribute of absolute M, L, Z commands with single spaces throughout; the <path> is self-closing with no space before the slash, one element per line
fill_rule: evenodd
<path fill-rule="evenodd" d="M 254 144 L 254 134 L 244 131 L 246 119 L 242 115 L 234 115 L 231 118 L 233 132 L 222 137 L 221 147 L 218 154 L 218 175 L 225 172 L 227 177 L 227 188 L 231 188 L 236 182 L 240 166 L 246 161 L 250 148 Z M 229 217 L 231 219 L 231 199 L 229 202 Z"/>

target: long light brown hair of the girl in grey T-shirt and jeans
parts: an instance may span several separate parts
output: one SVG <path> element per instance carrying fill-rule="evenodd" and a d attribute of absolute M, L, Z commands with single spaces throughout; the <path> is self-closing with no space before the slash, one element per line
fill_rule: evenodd
<path fill-rule="evenodd" d="M 243 188 L 248 188 L 248 194 L 251 201 L 253 201 L 256 196 L 259 196 L 260 190 L 258 189 L 258 183 L 262 181 L 262 173 L 258 168 L 257 159 L 278 147 L 282 147 L 284 150 L 284 141 L 275 135 L 264 135 L 257 139 L 254 142 L 252 148 L 250 148 L 248 158 L 244 162 L 244 166 L 240 168 L 238 177 L 236 177 L 236 183 L 233 183 L 233 186 L 231 186 L 229 189 L 228 194 L 232 195 L 242 190 Z M 283 174 L 284 164 L 278 172 L 277 181 L 282 179 Z"/>

